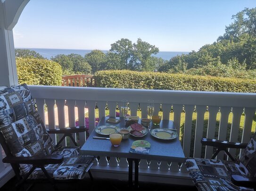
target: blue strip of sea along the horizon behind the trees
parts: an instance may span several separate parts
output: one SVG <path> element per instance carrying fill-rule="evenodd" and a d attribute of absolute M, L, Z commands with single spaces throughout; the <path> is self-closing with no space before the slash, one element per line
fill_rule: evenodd
<path fill-rule="evenodd" d="M 21 49 L 29 49 L 33 50 L 37 53 L 40 53 L 41 56 L 51 59 L 51 57 L 55 57 L 57 54 L 80 54 L 84 56 L 86 53 L 90 53 L 92 50 L 76 50 L 76 49 L 50 49 L 50 48 L 21 48 Z M 107 50 L 101 50 L 103 53 L 107 53 Z M 164 60 L 170 60 L 172 57 L 182 54 L 188 54 L 190 52 L 159 52 L 157 54 L 152 54 L 152 56 L 156 56 L 158 58 L 162 58 Z"/>

